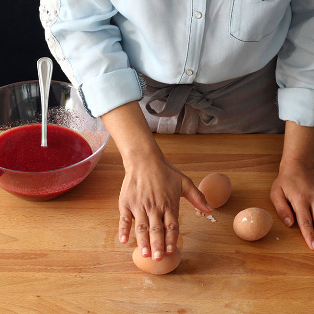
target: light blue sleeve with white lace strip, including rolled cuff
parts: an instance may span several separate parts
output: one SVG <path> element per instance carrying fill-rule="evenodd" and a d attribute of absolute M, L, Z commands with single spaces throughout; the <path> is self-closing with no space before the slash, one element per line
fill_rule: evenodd
<path fill-rule="evenodd" d="M 121 33 L 110 19 L 108 0 L 41 0 L 40 18 L 48 46 L 80 91 L 92 116 L 143 97 L 143 78 L 130 67 Z"/>

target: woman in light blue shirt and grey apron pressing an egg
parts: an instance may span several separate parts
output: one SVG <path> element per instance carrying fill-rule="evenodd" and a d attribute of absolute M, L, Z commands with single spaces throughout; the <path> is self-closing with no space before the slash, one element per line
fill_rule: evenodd
<path fill-rule="evenodd" d="M 288 227 L 295 213 L 314 249 L 312 0 L 41 0 L 40 16 L 52 54 L 123 157 L 122 243 L 134 217 L 142 256 L 161 260 L 176 246 L 180 197 L 211 210 L 152 131 L 276 133 L 285 124 L 271 199 Z"/>

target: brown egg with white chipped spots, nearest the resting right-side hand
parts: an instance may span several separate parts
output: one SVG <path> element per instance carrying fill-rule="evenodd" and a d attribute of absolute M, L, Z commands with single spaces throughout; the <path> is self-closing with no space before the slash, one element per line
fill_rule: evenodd
<path fill-rule="evenodd" d="M 244 240 L 255 241 L 267 235 L 273 224 L 271 215 L 264 209 L 251 207 L 238 212 L 234 230 Z"/>

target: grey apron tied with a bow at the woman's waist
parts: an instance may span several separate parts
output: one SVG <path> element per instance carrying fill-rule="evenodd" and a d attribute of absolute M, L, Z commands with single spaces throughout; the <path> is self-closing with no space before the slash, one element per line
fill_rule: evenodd
<path fill-rule="evenodd" d="M 165 84 L 143 76 L 140 106 L 158 133 L 283 133 L 276 58 L 261 70 L 214 84 Z"/>

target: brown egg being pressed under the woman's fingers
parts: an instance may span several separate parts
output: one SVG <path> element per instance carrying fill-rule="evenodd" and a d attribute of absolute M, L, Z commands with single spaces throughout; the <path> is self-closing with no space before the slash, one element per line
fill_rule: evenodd
<path fill-rule="evenodd" d="M 150 274 L 163 275 L 177 268 L 181 262 L 181 253 L 176 248 L 172 254 L 165 254 L 161 261 L 154 261 L 151 257 L 142 257 L 137 246 L 133 251 L 132 259 L 139 269 Z"/>

